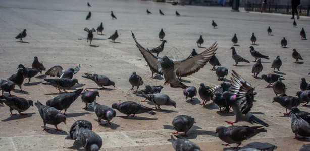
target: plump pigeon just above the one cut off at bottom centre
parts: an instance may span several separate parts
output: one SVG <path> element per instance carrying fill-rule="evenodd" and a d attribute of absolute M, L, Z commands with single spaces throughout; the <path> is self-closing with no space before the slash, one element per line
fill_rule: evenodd
<path fill-rule="evenodd" d="M 172 133 L 172 134 L 179 134 L 179 132 L 185 132 L 184 135 L 187 137 L 186 133 L 188 132 L 188 130 L 194 125 L 195 119 L 192 118 L 191 116 L 188 115 L 178 115 L 176 116 L 173 121 L 172 121 L 172 125 L 173 128 L 176 130 L 176 132 Z"/>

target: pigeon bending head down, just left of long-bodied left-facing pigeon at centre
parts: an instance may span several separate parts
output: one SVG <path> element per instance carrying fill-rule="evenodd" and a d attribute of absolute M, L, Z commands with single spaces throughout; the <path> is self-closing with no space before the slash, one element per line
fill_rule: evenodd
<path fill-rule="evenodd" d="M 97 104 L 96 101 L 94 101 L 93 104 L 94 104 L 95 113 L 98 117 L 99 125 L 104 125 L 101 123 L 101 119 L 106 120 L 107 124 L 111 124 L 112 118 L 116 116 L 115 110 L 112 107 Z"/>

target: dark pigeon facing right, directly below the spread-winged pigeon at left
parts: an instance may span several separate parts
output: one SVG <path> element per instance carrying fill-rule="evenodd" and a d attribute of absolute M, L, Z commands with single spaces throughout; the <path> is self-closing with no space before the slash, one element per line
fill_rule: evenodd
<path fill-rule="evenodd" d="M 68 78 L 62 78 L 62 79 L 44 79 L 44 81 L 47 81 L 47 83 L 42 83 L 44 85 L 52 85 L 53 87 L 56 87 L 59 92 L 62 92 L 61 89 L 63 89 L 65 92 L 67 92 L 65 89 L 69 89 L 73 87 L 75 84 L 78 84 L 78 80 L 68 79 Z"/>

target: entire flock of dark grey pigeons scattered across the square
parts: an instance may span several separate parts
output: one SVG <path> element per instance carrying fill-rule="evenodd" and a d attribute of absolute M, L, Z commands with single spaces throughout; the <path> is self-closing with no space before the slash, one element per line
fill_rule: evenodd
<path fill-rule="evenodd" d="M 89 7 L 90 4 L 87 3 Z M 147 10 L 148 14 L 151 14 Z M 162 15 L 163 12 L 160 10 L 160 13 Z M 178 16 L 178 12 L 176 12 Z M 117 19 L 113 12 L 111 11 L 112 19 Z M 86 17 L 86 20 L 90 19 L 91 12 L 89 12 L 88 16 Z M 212 21 L 212 26 L 215 28 L 217 27 L 217 24 Z M 102 23 L 97 28 L 97 33 L 103 31 Z M 93 38 L 92 32 L 95 32 L 96 30 L 93 28 L 92 30 L 89 30 L 88 28 L 84 29 L 88 32 L 87 36 L 87 42 L 90 40 L 90 43 Z M 269 27 L 268 28 L 268 34 L 270 35 L 272 30 Z M 21 32 L 16 39 L 20 39 L 21 41 L 23 38 L 26 37 L 26 29 Z M 184 89 L 184 95 L 185 98 L 191 98 L 194 97 L 197 94 L 197 89 L 192 86 L 186 86 L 181 82 L 182 77 L 186 77 L 188 75 L 191 75 L 199 69 L 203 68 L 206 63 L 210 62 L 210 64 L 213 66 L 212 70 L 216 70 L 216 75 L 219 78 L 219 80 L 224 79 L 224 76 L 228 74 L 228 69 L 221 66 L 219 60 L 215 56 L 215 52 L 217 50 L 217 43 L 213 43 L 210 48 L 206 49 L 205 51 L 201 53 L 196 53 L 195 49 L 193 49 L 192 53 L 189 57 L 183 60 L 171 60 L 167 56 L 164 56 L 160 58 L 158 55 L 164 50 L 164 44 L 167 43 L 166 40 L 163 40 L 165 37 L 165 33 L 163 29 L 161 29 L 159 33 L 159 38 L 162 40 L 162 44 L 154 49 L 148 50 L 145 49 L 143 46 L 141 46 L 138 41 L 135 38 L 135 35 L 132 33 L 133 39 L 136 43 L 136 46 L 138 50 L 143 55 L 145 61 L 147 62 L 147 65 L 150 67 L 150 70 L 153 73 L 156 73 L 157 75 L 163 75 L 165 82 L 164 85 L 170 85 L 172 88 L 182 88 Z M 301 39 L 306 39 L 304 29 L 302 28 L 300 32 Z M 113 35 L 110 36 L 109 39 L 112 39 L 115 41 L 115 39 L 118 38 L 117 30 Z M 256 37 L 254 36 L 254 33 L 252 33 L 251 37 L 252 44 L 255 44 Z M 202 36 L 197 40 L 198 47 L 201 46 L 201 44 L 204 42 L 202 39 Z M 232 38 L 232 42 L 234 45 L 238 43 L 238 38 L 236 34 L 234 34 L 234 37 Z M 285 38 L 283 38 L 280 42 L 282 47 L 286 47 L 287 41 Z M 250 53 L 255 58 L 256 62 L 252 67 L 252 72 L 254 73 L 254 77 L 257 78 L 257 75 L 262 71 L 263 65 L 261 64 L 261 59 L 269 59 L 268 56 L 261 54 L 260 52 L 256 51 L 253 46 L 250 46 Z M 235 60 L 235 66 L 238 65 L 239 62 L 246 62 L 250 63 L 248 60 L 243 58 L 242 56 L 238 55 L 236 53 L 235 47 L 231 47 L 232 50 L 232 58 Z M 156 53 L 154 55 L 153 53 Z M 296 51 L 296 49 L 293 49 L 292 57 L 296 59 L 296 62 L 298 60 L 302 60 L 301 55 Z M 295 62 L 295 63 L 296 63 Z M 277 58 L 272 62 L 271 68 L 274 70 L 277 69 L 279 71 L 280 67 L 282 65 L 282 62 L 280 60 L 280 57 L 277 56 Z M 215 68 L 215 66 L 220 66 L 218 68 Z M 0 103 L 5 103 L 7 106 L 10 107 L 11 116 L 16 115 L 13 114 L 13 110 L 17 110 L 18 113 L 21 115 L 25 115 L 24 112 L 26 111 L 30 106 L 33 106 L 32 100 L 26 100 L 21 97 L 12 96 L 11 91 L 15 89 L 15 85 L 20 87 L 20 92 L 22 92 L 22 83 L 24 82 L 24 79 L 28 78 L 28 83 L 30 82 L 30 79 L 32 77 L 35 77 L 39 72 L 42 76 L 42 71 L 46 70 L 42 63 L 39 62 L 37 57 L 34 57 L 34 61 L 32 63 L 32 67 L 24 67 L 22 64 L 18 65 L 18 71 L 16 74 L 13 74 L 10 78 L 7 80 L 1 80 L 0 82 L 0 90 L 2 90 L 2 95 L 0 96 Z M 100 105 L 96 103 L 96 97 L 99 97 L 99 92 L 97 90 L 94 91 L 88 91 L 83 89 L 78 89 L 74 92 L 67 92 L 66 89 L 69 89 L 73 87 L 75 84 L 78 84 L 78 80 L 73 78 L 73 75 L 76 74 L 80 70 L 80 65 L 75 68 L 69 68 L 68 70 L 64 70 L 61 66 L 57 65 L 45 72 L 46 75 L 50 75 L 51 77 L 59 77 L 55 79 L 44 79 L 46 81 L 46 85 L 52 85 L 56 87 L 60 92 L 61 90 L 64 90 L 66 93 L 63 93 L 53 99 L 50 99 L 46 102 L 46 105 L 43 105 L 39 101 L 35 102 L 34 105 L 38 108 L 41 118 L 43 119 L 44 123 L 44 129 L 43 130 L 49 130 L 45 126 L 46 124 L 51 124 L 56 127 L 57 131 L 61 131 L 61 129 L 58 129 L 57 125 L 61 122 L 66 123 L 66 111 L 70 107 L 70 105 L 79 97 L 81 96 L 81 100 L 86 104 L 86 107 L 83 109 L 88 108 L 88 104 L 94 109 L 95 114 L 98 117 L 98 123 L 99 125 L 102 125 L 101 119 L 106 120 L 107 124 L 111 124 L 111 120 L 116 116 L 116 112 L 114 109 L 117 109 L 121 113 L 125 114 L 124 117 L 134 117 L 135 114 L 140 113 L 149 113 L 151 115 L 156 114 L 156 112 L 153 112 L 154 109 L 148 108 L 146 106 L 143 106 L 139 103 L 132 102 L 132 101 L 126 101 L 123 103 L 114 103 L 112 107 Z M 274 71 L 275 72 L 275 71 Z M 84 73 L 82 77 L 90 79 L 94 81 L 98 86 L 102 87 L 102 89 L 106 89 L 104 86 L 114 86 L 115 82 L 111 81 L 108 77 L 105 75 L 99 75 L 99 74 L 88 74 Z M 310 74 L 310 73 L 309 73 Z M 287 96 L 285 93 L 285 84 L 282 82 L 283 77 L 280 77 L 278 74 L 263 74 L 261 75 L 262 79 L 264 79 L 269 85 L 267 87 L 272 86 L 273 91 L 276 94 L 276 97 L 274 97 L 273 102 L 280 103 L 281 106 L 283 106 L 286 109 L 286 113 L 284 115 L 289 115 L 291 118 L 291 128 L 293 133 L 295 133 L 296 139 L 301 139 L 297 137 L 297 135 L 301 137 L 309 137 L 310 136 L 310 113 L 300 111 L 297 106 L 301 103 L 306 103 L 304 105 L 307 105 L 310 102 L 310 84 L 308 84 L 305 80 L 305 78 L 301 79 L 300 83 L 300 91 L 297 91 L 296 96 Z M 155 105 L 156 110 L 163 110 L 160 108 L 160 106 L 169 105 L 176 107 L 176 102 L 171 100 L 168 95 L 161 93 L 161 89 L 163 86 L 150 86 L 146 85 L 145 88 L 141 91 L 138 91 L 139 86 L 143 85 L 142 78 L 136 74 L 136 72 L 133 72 L 132 75 L 129 77 L 129 83 L 132 85 L 131 90 L 134 90 L 134 87 L 136 86 L 137 89 L 133 92 L 135 95 L 144 97 L 145 100 L 142 102 L 145 102 L 146 100 L 151 101 Z M 235 121 L 225 121 L 228 124 L 231 124 L 232 126 L 224 127 L 220 126 L 216 128 L 216 133 L 218 134 L 218 137 L 226 142 L 227 144 L 223 144 L 225 146 L 229 146 L 232 143 L 237 143 L 238 145 L 233 148 L 239 148 L 239 145 L 241 142 L 245 139 L 251 138 L 255 136 L 258 133 L 261 132 L 267 132 L 266 129 L 262 128 L 263 126 L 268 127 L 269 124 L 265 123 L 264 121 L 260 120 L 259 118 L 255 117 L 251 112 L 251 107 L 253 106 L 254 102 L 254 96 L 256 95 L 256 92 L 254 92 L 254 88 L 251 87 L 251 85 L 245 81 L 237 72 L 232 70 L 232 78 L 230 82 L 223 82 L 218 86 L 215 86 L 213 88 L 210 88 L 208 86 L 205 86 L 203 83 L 200 84 L 200 88 L 198 89 L 198 94 L 200 98 L 203 100 L 203 103 L 201 105 L 205 105 L 206 102 L 212 100 L 218 107 L 220 108 L 219 112 L 228 112 L 228 113 L 234 113 L 235 114 Z M 3 92 L 8 92 L 9 96 L 3 95 Z M 278 94 L 280 96 L 278 96 Z M 224 108 L 222 110 L 222 108 Z M 233 112 L 230 110 L 230 108 L 233 109 Z M 60 111 L 64 110 L 64 113 L 61 113 Z M 287 110 L 290 110 L 288 113 Z M 245 121 L 248 123 L 257 123 L 261 124 L 262 126 L 234 126 L 234 123 Z M 193 126 L 195 123 L 194 118 L 188 116 L 188 115 L 179 115 L 175 117 L 172 121 L 172 124 L 174 126 L 174 129 L 176 130 L 173 134 L 179 134 L 179 132 L 184 132 L 183 136 L 187 136 L 186 133 L 189 131 L 189 129 Z M 76 139 L 80 143 L 83 144 L 84 148 L 86 150 L 98 150 L 102 146 L 102 140 L 99 135 L 94 133 L 92 131 L 92 125 L 89 121 L 86 120 L 78 120 L 71 126 L 70 129 L 70 138 Z M 197 146 L 195 143 L 185 139 L 185 138 L 179 138 L 178 135 L 176 135 L 178 139 L 175 139 L 173 136 L 171 136 L 171 141 L 173 144 L 173 147 L 176 150 L 200 150 L 200 147 Z M 309 145 L 307 145 L 309 147 Z M 307 147 L 303 146 L 303 147 Z"/>

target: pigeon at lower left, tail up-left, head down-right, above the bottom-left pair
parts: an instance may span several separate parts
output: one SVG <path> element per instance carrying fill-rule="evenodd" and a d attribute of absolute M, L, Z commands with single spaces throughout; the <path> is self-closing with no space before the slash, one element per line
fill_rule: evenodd
<path fill-rule="evenodd" d="M 61 122 L 66 124 L 66 116 L 61 114 L 60 111 L 53 107 L 45 106 L 39 101 L 34 103 L 34 105 L 38 108 L 41 118 L 43 119 L 44 123 L 44 130 L 48 131 L 45 126 L 46 124 L 54 125 L 57 131 L 62 131 L 61 129 L 57 128 L 57 125 Z"/>

